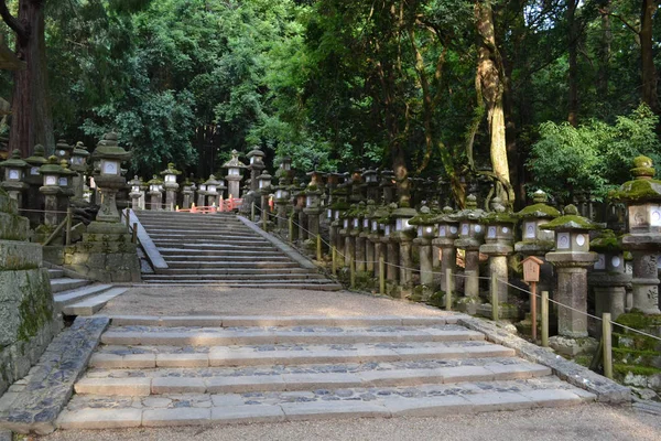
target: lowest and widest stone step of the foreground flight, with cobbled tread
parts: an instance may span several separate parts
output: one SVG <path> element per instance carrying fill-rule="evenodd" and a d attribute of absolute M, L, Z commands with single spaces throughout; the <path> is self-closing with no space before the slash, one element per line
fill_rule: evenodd
<path fill-rule="evenodd" d="M 589 392 L 555 377 L 528 380 L 338 388 L 314 391 L 187 394 L 158 397 L 77 395 L 59 429 L 203 426 L 340 418 L 438 417 L 575 406 Z"/>

